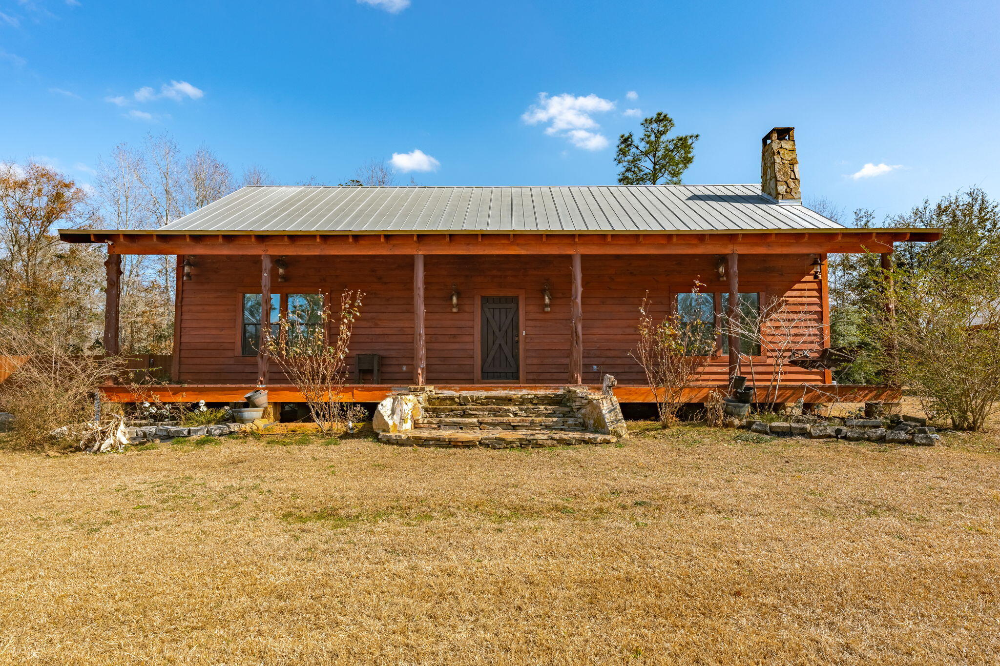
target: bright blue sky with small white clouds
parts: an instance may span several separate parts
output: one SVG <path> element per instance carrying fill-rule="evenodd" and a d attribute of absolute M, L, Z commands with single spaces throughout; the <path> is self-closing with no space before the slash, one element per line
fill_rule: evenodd
<path fill-rule="evenodd" d="M 434 169 L 404 183 L 597 185 L 638 109 L 701 135 L 686 183 L 757 182 L 760 137 L 793 125 L 807 200 L 891 214 L 1000 197 L 998 19 L 995 0 L 0 0 L 0 159 L 86 183 L 168 130 L 281 183 L 399 154 Z"/>

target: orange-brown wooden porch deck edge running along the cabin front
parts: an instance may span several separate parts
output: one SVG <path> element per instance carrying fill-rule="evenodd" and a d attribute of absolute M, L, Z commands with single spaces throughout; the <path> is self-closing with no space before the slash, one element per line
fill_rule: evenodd
<path fill-rule="evenodd" d="M 435 384 L 439 391 L 500 391 L 500 390 L 538 390 L 558 391 L 565 384 Z M 104 399 L 109 402 L 140 402 L 156 398 L 161 402 L 234 402 L 257 386 L 251 384 L 150 384 L 141 390 L 133 390 L 134 386 L 105 385 L 101 387 Z M 600 390 L 600 384 L 590 386 Z M 394 391 L 405 386 L 390 384 L 349 384 L 344 387 L 341 399 L 346 402 L 378 402 Z M 684 391 L 685 402 L 703 402 L 713 390 L 725 389 L 722 384 L 696 384 Z M 653 391 L 649 386 L 617 385 L 615 396 L 620 402 L 653 402 Z M 767 392 L 766 385 L 757 387 L 759 395 Z M 902 399 L 899 388 L 873 385 L 851 384 L 786 384 L 777 390 L 779 402 L 794 402 L 802 399 L 806 402 L 864 402 L 866 400 L 894 401 Z M 305 402 L 302 393 L 289 384 L 268 386 L 268 399 L 272 402 Z"/>

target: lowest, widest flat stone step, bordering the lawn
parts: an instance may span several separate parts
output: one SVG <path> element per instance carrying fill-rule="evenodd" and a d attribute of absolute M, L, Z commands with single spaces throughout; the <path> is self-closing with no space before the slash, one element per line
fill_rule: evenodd
<path fill-rule="evenodd" d="M 481 446 L 486 448 L 534 448 L 564 444 L 612 444 L 612 434 L 574 430 L 442 430 L 413 428 L 402 432 L 382 432 L 379 440 L 401 446 Z"/>

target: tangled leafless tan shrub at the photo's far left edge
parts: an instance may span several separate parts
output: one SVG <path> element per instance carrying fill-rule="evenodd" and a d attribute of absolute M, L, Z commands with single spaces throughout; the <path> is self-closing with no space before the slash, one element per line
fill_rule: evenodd
<path fill-rule="evenodd" d="M 0 384 L 0 404 L 14 414 L 13 440 L 20 448 L 52 447 L 73 438 L 74 426 L 94 420 L 98 386 L 124 368 L 120 357 L 83 353 L 66 335 L 64 327 L 52 325 L 31 333 L 0 328 L 3 353 L 26 358 Z"/>

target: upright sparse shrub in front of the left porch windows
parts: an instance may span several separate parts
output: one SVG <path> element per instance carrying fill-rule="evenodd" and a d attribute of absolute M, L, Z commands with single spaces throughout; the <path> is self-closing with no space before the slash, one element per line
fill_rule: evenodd
<path fill-rule="evenodd" d="M 340 310 L 334 314 L 324 306 L 316 314 L 316 322 L 286 316 L 277 323 L 278 333 L 269 333 L 265 342 L 264 348 L 302 392 L 313 420 L 324 433 L 363 419 L 355 405 L 340 401 L 347 384 L 347 354 L 354 322 L 361 314 L 362 296 L 361 292 L 344 292 Z"/>

